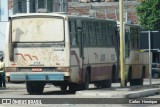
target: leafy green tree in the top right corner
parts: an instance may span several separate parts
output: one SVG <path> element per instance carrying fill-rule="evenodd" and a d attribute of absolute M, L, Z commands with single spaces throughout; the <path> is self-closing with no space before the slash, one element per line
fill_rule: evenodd
<path fill-rule="evenodd" d="M 137 6 L 136 11 L 144 29 L 160 29 L 160 0 L 144 0 Z"/>

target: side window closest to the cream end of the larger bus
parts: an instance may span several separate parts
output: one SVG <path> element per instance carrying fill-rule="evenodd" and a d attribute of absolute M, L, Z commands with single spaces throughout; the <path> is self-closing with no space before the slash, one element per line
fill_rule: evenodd
<path fill-rule="evenodd" d="M 76 46 L 77 44 L 77 33 L 76 33 L 76 22 L 69 21 L 69 31 L 70 31 L 70 40 L 71 40 L 71 45 Z"/>

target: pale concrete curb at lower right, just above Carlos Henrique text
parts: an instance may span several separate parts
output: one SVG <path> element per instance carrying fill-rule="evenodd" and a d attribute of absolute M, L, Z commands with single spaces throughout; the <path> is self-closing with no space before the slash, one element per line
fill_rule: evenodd
<path fill-rule="evenodd" d="M 131 92 L 131 93 L 125 94 L 124 97 L 128 98 L 128 99 L 132 99 L 132 98 L 141 98 L 141 97 L 153 96 L 153 95 L 156 95 L 156 94 L 160 94 L 160 88 Z"/>

